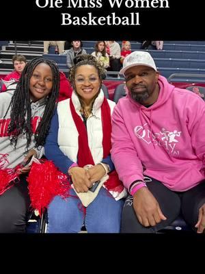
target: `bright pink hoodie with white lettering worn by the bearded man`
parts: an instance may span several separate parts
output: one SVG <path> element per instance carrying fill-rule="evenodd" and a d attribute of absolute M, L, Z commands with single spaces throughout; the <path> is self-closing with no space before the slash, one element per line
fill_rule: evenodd
<path fill-rule="evenodd" d="M 127 95 L 115 106 L 111 158 L 124 186 L 148 175 L 176 191 L 205 178 L 205 103 L 159 76 L 150 108 Z"/>

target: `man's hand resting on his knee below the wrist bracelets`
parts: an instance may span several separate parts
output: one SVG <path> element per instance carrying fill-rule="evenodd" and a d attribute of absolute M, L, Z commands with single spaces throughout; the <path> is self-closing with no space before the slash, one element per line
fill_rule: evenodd
<path fill-rule="evenodd" d="M 133 208 L 139 220 L 144 227 L 154 226 L 161 220 L 167 218 L 161 212 L 159 203 L 156 201 L 150 190 L 142 187 L 133 197 Z"/>

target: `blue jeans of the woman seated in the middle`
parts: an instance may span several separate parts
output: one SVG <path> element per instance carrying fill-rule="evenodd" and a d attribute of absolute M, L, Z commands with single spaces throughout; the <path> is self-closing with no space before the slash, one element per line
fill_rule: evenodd
<path fill-rule="evenodd" d="M 48 208 L 48 233 L 77 233 L 85 224 L 88 233 L 119 233 L 124 199 L 115 201 L 105 188 L 100 188 L 98 196 L 82 210 L 82 203 L 74 190 L 62 199 L 56 196 Z"/>

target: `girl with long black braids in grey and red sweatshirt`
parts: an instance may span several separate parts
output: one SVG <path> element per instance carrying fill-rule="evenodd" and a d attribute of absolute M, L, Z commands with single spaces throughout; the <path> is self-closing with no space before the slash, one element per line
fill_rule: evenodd
<path fill-rule="evenodd" d="M 19 182 L 0 192 L 1 233 L 25 232 L 30 167 L 20 163 L 32 155 L 41 157 L 58 91 L 55 62 L 34 58 L 25 66 L 17 86 L 0 94 L 0 169 L 12 172 L 19 166 Z"/>

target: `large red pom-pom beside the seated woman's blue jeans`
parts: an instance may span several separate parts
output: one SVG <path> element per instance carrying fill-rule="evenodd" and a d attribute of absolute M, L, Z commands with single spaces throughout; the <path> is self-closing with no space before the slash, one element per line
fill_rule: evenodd
<path fill-rule="evenodd" d="M 33 162 L 27 182 L 29 182 L 31 206 L 38 210 L 40 215 L 56 195 L 69 196 L 68 177 L 49 160 L 41 164 Z"/>

